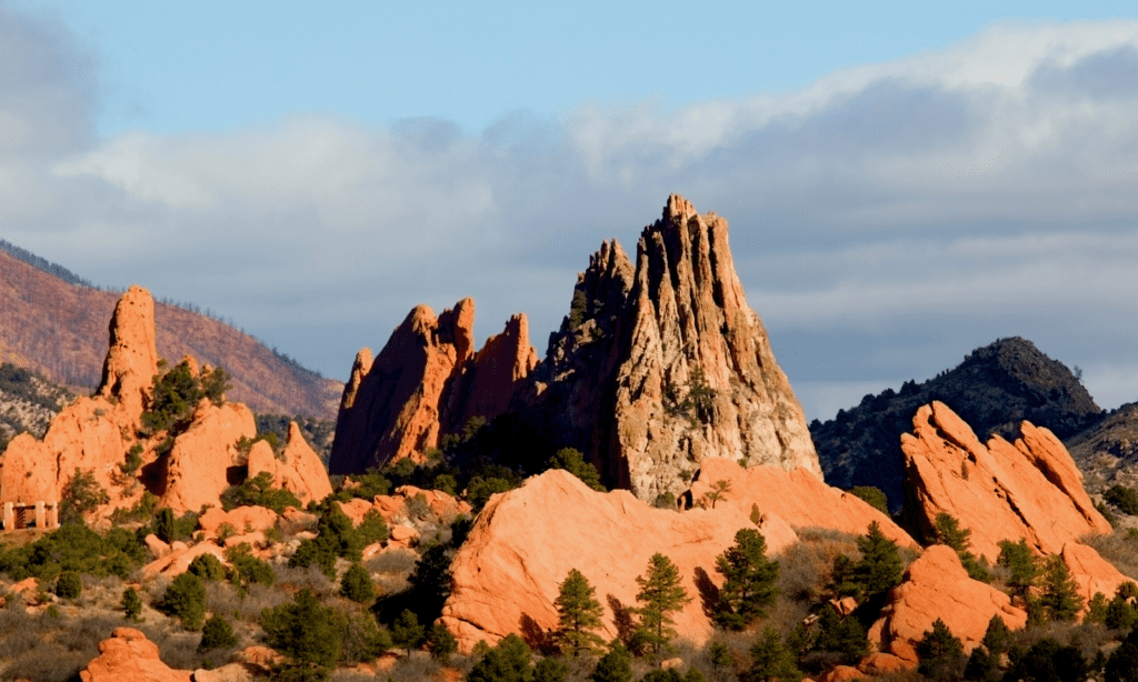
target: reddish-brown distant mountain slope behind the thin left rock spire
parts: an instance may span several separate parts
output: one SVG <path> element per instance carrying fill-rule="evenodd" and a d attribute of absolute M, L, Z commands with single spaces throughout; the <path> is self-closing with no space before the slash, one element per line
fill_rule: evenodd
<path fill-rule="evenodd" d="M 0 361 L 56 383 L 98 385 L 107 321 L 118 293 L 66 282 L 25 260 L 0 249 Z M 233 376 L 233 400 L 257 413 L 336 417 L 341 382 L 304 369 L 253 336 L 190 310 L 156 302 L 155 317 L 158 354 L 171 361 L 190 354 L 224 367 Z"/>

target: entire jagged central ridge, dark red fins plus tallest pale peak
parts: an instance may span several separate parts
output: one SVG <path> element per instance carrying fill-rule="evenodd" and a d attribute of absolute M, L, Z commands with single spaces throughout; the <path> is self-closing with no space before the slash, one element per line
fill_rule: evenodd
<path fill-rule="evenodd" d="M 727 222 L 673 194 L 635 260 L 605 242 L 578 277 L 544 361 L 523 315 L 475 352 L 473 301 L 437 316 L 418 306 L 372 360 L 356 357 L 329 468 L 360 473 L 422 460 L 472 417 L 484 452 L 528 474 L 571 447 L 640 499 L 679 496 L 699 463 L 820 474 L 802 408 L 747 305 Z"/>

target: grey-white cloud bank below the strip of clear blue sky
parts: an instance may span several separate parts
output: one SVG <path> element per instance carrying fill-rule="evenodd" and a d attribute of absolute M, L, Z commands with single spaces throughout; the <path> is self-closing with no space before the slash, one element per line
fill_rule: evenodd
<path fill-rule="evenodd" d="M 0 34 L 25 36 L 13 58 L 58 48 L 3 16 Z M 787 358 L 815 414 L 877 377 L 946 368 L 889 368 L 914 325 L 939 347 L 1009 321 L 1064 352 L 1095 334 L 1090 376 L 1138 325 L 1118 314 L 1138 303 L 1136 64 L 1138 22 L 1006 24 L 798 92 L 677 110 L 514 113 L 480 135 L 297 114 L 96 142 L 81 82 L 0 68 L 0 95 L 31 102 L 0 103 L 0 133 L 20 141 L 0 161 L 0 231 L 97 282 L 197 301 L 282 349 L 295 339 L 290 355 L 344 374 L 414 303 L 468 294 L 479 338 L 525 310 L 544 350 L 588 252 L 611 236 L 632 250 L 679 192 L 731 221 L 775 346 L 828 333 L 811 352 L 847 358 L 842 380 Z"/>

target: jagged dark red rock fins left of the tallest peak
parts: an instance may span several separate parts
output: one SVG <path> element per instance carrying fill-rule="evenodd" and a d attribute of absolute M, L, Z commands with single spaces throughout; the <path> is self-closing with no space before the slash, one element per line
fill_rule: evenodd
<path fill-rule="evenodd" d="M 492 419 L 536 364 L 516 316 L 473 351 L 475 301 L 465 298 L 435 317 L 417 306 L 379 356 L 362 349 L 344 386 L 329 471 L 353 474 L 403 457 L 422 460 L 439 435 L 470 416 Z"/>

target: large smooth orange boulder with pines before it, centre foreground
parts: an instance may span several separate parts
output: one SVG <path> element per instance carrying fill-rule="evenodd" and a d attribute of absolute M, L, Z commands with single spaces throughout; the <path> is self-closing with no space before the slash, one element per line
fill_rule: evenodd
<path fill-rule="evenodd" d="M 715 559 L 742 527 L 754 525 L 731 505 L 682 514 L 655 509 L 628 491 L 596 492 L 564 471 L 549 471 L 492 497 L 478 515 L 452 562 L 442 623 L 464 651 L 479 640 L 555 629 L 558 585 L 577 568 L 604 605 L 601 634 L 608 640 L 618 633 L 617 612 L 636 606 L 636 577 L 660 552 L 692 597 L 675 616 L 676 630 L 702 643 L 712 627 L 696 584 L 721 582 Z M 769 555 L 797 541 L 793 533 L 764 532 Z"/>

